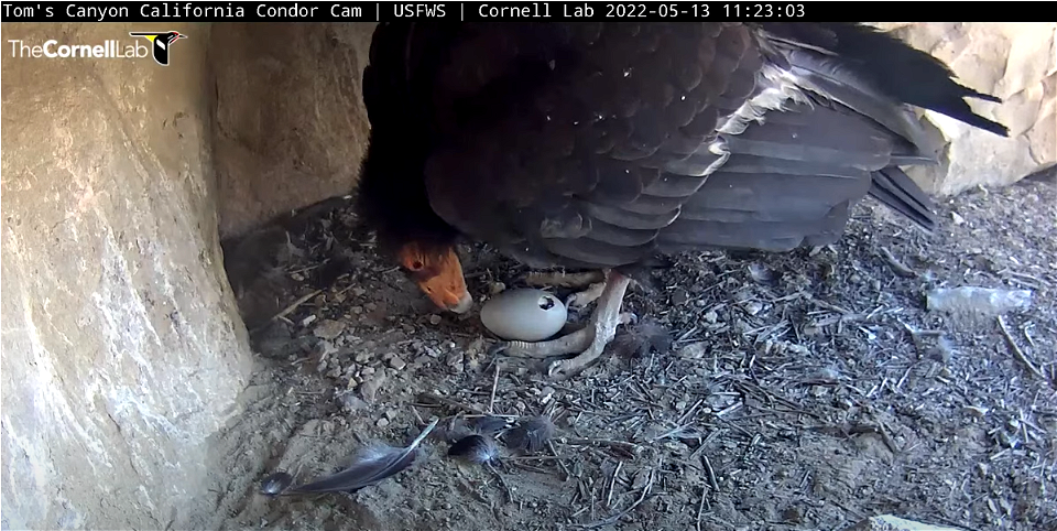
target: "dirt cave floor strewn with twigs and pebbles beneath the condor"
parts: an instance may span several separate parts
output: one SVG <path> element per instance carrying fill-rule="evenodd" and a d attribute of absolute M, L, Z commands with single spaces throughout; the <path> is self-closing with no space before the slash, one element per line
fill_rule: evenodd
<path fill-rule="evenodd" d="M 1029 178 L 944 202 L 930 236 L 867 203 L 831 247 L 677 257 L 625 299 L 639 325 L 566 381 L 491 356 L 476 311 L 435 313 L 347 201 L 310 208 L 226 247 L 261 369 L 219 443 L 218 527 L 839 530 L 893 513 L 1057 529 L 1055 205 L 1051 176 Z M 486 248 L 464 258 L 479 297 L 524 285 Z M 928 290 L 961 285 L 1034 300 L 1005 334 L 926 311 Z M 643 339 L 656 326 L 669 345 Z M 305 481 L 489 410 L 547 413 L 558 433 L 498 474 L 432 436 L 355 494 L 258 494 L 271 473 Z"/>

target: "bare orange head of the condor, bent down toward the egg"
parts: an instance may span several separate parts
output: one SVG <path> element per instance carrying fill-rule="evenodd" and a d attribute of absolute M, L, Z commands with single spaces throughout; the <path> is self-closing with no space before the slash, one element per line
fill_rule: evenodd
<path fill-rule="evenodd" d="M 455 246 L 433 248 L 412 241 L 401 246 L 396 256 L 412 280 L 440 308 L 461 314 L 473 305 Z"/>

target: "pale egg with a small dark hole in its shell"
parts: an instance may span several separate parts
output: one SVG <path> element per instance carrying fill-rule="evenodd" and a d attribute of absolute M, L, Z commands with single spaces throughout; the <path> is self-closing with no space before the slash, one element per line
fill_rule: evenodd
<path fill-rule="evenodd" d="M 503 339 L 538 342 L 565 326 L 565 304 L 543 290 L 506 290 L 484 303 L 481 323 Z"/>

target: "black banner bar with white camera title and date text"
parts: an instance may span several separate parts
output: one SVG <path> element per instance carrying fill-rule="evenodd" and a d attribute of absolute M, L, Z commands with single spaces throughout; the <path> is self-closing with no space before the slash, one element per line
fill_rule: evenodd
<path fill-rule="evenodd" d="M 1045 2 L 2 2 L 3 22 L 638 21 L 851 22 L 1043 20 Z"/>

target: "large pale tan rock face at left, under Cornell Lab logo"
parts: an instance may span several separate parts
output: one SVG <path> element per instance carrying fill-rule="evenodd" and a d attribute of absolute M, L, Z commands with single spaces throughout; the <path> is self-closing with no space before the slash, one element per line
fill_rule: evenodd
<path fill-rule="evenodd" d="M 172 28 L 188 39 L 162 67 L 10 55 L 142 24 L 2 26 L 3 529 L 214 512 L 207 441 L 251 358 L 217 232 L 209 28 Z"/>

